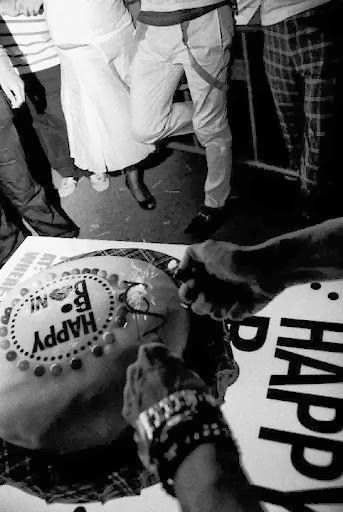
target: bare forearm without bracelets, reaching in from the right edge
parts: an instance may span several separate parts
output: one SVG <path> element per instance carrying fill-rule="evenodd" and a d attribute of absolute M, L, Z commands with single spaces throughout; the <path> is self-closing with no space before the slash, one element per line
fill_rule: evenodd
<path fill-rule="evenodd" d="M 246 247 L 237 258 L 284 286 L 343 278 L 343 218 Z"/>

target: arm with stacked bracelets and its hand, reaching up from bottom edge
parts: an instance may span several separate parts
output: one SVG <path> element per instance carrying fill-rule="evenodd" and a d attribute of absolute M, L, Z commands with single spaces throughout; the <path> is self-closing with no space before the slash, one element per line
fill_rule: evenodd
<path fill-rule="evenodd" d="M 180 398 L 183 392 L 188 401 Z M 207 392 L 202 379 L 162 343 L 141 345 L 127 369 L 123 416 L 136 428 L 142 463 L 155 472 L 154 451 L 157 473 L 168 492 L 166 482 L 174 480 L 183 512 L 261 512 L 220 408 L 195 398 Z M 213 422 L 217 433 L 209 430 Z M 188 436 L 198 441 L 187 444 Z"/>

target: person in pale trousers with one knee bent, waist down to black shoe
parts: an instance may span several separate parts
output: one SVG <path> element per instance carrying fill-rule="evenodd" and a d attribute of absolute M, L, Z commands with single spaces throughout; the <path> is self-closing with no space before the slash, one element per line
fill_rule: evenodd
<path fill-rule="evenodd" d="M 153 143 L 195 131 L 206 150 L 208 172 L 204 204 L 185 233 L 205 239 L 225 220 L 230 197 L 232 137 L 226 82 L 235 2 L 137 2 L 141 11 L 131 65 L 134 135 L 137 140 Z M 192 103 L 173 103 L 183 73 Z"/>

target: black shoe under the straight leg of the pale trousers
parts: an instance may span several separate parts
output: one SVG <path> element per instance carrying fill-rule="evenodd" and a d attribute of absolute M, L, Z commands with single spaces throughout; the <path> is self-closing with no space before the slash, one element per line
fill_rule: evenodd
<path fill-rule="evenodd" d="M 184 233 L 193 238 L 205 240 L 223 224 L 225 220 L 224 207 L 210 208 L 202 206 L 200 211 L 186 227 Z"/>

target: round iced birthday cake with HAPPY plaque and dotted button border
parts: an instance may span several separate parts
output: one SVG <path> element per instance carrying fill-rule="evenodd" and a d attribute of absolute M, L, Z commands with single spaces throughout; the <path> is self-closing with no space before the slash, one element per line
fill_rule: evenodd
<path fill-rule="evenodd" d="M 173 280 L 139 259 L 86 257 L 22 283 L 0 305 L 0 437 L 63 453 L 112 442 L 139 345 L 156 334 L 181 355 L 188 322 Z"/>

